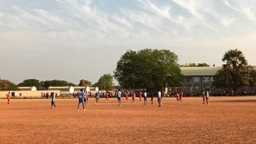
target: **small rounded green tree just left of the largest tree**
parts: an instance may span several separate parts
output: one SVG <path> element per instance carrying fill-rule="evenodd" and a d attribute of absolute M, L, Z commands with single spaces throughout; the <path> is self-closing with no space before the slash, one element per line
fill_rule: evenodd
<path fill-rule="evenodd" d="M 94 85 L 100 90 L 111 91 L 113 90 L 113 76 L 110 74 L 102 75 Z"/>

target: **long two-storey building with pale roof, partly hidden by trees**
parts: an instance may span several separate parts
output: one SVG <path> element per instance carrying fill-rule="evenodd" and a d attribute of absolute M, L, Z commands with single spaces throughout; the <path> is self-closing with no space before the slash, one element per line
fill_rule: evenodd
<path fill-rule="evenodd" d="M 206 88 L 212 92 L 229 91 L 228 88 L 218 89 L 214 88 L 212 82 L 214 81 L 214 75 L 222 67 L 181 67 L 181 74 L 183 78 L 183 88 L 185 90 L 192 91 L 193 93 L 201 93 Z M 256 67 L 255 67 L 256 69 Z M 255 94 L 255 88 L 243 88 L 238 92 L 246 91 L 247 94 Z"/>

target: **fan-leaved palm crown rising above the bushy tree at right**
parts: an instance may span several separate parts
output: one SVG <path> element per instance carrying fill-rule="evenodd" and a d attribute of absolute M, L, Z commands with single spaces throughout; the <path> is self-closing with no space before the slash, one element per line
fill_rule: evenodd
<path fill-rule="evenodd" d="M 246 66 L 247 61 L 244 57 L 244 54 L 241 52 L 241 50 L 228 50 L 225 52 L 223 58 L 223 62 L 226 62 L 226 64 L 229 67 L 236 68 L 238 66 Z"/>

